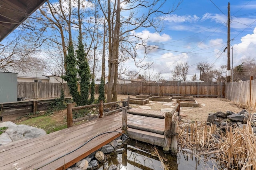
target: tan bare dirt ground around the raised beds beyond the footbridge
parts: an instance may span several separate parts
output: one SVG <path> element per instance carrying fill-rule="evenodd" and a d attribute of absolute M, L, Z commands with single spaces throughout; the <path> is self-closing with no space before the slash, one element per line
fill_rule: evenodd
<path fill-rule="evenodd" d="M 130 95 L 118 95 L 118 100 L 127 98 Z M 130 96 L 130 98 L 136 98 L 136 96 Z M 233 111 L 235 113 L 240 112 L 243 108 L 235 105 L 232 101 L 226 98 L 194 98 L 199 107 L 180 107 L 180 115 L 182 119 L 191 121 L 206 121 L 208 113 L 214 113 L 217 111 Z M 176 104 L 176 100 L 172 102 L 155 102 L 150 101 L 146 105 L 134 105 L 130 104 L 130 107 L 141 108 L 141 106 L 151 107 L 151 110 L 161 111 L 161 109 L 171 109 Z"/>

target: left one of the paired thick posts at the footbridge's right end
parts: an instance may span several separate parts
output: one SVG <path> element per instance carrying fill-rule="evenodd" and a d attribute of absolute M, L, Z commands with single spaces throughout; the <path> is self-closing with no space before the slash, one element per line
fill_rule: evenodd
<path fill-rule="evenodd" d="M 172 137 L 172 113 L 165 113 L 165 123 L 164 123 L 164 152 L 168 153 L 170 150 L 170 143 Z"/>

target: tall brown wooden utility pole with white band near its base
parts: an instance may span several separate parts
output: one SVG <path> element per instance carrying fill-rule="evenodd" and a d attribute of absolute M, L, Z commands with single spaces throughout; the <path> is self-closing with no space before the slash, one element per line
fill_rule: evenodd
<path fill-rule="evenodd" d="M 228 2 L 228 69 L 227 69 L 227 82 L 230 83 L 230 3 Z"/>

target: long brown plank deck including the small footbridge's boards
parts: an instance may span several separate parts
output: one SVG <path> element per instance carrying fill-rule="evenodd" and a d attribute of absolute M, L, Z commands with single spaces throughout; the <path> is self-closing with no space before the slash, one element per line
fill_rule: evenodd
<path fill-rule="evenodd" d="M 164 115 L 165 113 L 137 108 L 130 110 L 158 115 Z M 164 119 L 128 114 L 128 124 L 164 130 Z M 0 146 L 0 170 L 64 170 L 122 134 L 107 133 L 100 135 L 82 146 L 86 141 L 108 131 L 122 132 L 121 127 L 122 112 L 94 119 L 43 137 Z M 128 136 L 130 138 L 136 139 L 138 135 L 145 139 L 144 142 L 148 142 L 148 137 L 155 138 L 155 145 L 159 146 L 162 146 L 160 144 L 163 144 L 164 141 L 164 135 L 128 128 Z M 82 147 L 77 149 L 80 146 Z M 75 151 L 63 156 L 72 150 Z"/>

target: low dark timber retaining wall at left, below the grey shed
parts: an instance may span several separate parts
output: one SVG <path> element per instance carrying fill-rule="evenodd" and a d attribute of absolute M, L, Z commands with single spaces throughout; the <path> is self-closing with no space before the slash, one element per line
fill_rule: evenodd
<path fill-rule="evenodd" d="M 47 110 L 54 99 L 0 103 L 0 121 L 11 121 L 28 113 Z"/>

